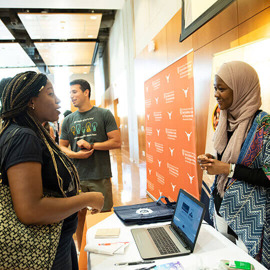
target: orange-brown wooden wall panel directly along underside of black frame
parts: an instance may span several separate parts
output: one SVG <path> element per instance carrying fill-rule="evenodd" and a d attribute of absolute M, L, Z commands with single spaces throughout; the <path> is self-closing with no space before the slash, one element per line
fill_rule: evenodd
<path fill-rule="evenodd" d="M 236 1 L 192 34 L 194 49 L 202 47 L 235 26 L 237 26 Z"/>

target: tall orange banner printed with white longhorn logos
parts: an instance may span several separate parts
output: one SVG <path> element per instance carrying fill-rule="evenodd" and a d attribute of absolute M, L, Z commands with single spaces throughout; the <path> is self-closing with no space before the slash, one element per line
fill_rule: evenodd
<path fill-rule="evenodd" d="M 199 198 L 196 173 L 193 52 L 144 82 L 146 173 L 150 195 Z"/>

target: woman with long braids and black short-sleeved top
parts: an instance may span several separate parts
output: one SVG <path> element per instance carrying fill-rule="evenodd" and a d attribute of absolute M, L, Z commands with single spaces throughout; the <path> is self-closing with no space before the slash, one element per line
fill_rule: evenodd
<path fill-rule="evenodd" d="M 44 121 L 58 119 L 59 102 L 44 74 L 19 73 L 6 84 L 1 97 L 1 159 L 8 149 L 1 162 L 0 190 L 6 186 L 10 189 L 13 209 L 22 224 L 54 224 L 63 220 L 58 243 L 52 243 L 56 244 L 55 252 L 48 255 L 51 261 L 46 268 L 68 270 L 78 268 L 72 239 L 77 211 L 91 206 L 92 213 L 99 212 L 104 198 L 100 192 L 80 192 L 76 168 L 42 126 Z M 21 128 L 7 143 L 6 137 L 17 127 Z M 30 268 L 27 259 L 25 265 L 21 265 L 21 260 L 16 262 L 18 245 L 12 250 L 7 244 L 0 239 L 0 250 L 7 252 L 10 265 L 1 265 L 0 258 L 0 268 Z M 38 256 L 34 246 L 32 250 L 29 258 Z"/>

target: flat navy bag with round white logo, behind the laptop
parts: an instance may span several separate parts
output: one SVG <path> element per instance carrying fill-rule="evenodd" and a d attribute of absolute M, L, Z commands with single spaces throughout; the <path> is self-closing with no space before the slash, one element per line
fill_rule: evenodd
<path fill-rule="evenodd" d="M 166 203 L 161 201 L 164 198 Z M 157 201 L 113 207 L 115 214 L 124 224 L 149 224 L 170 221 L 175 208 L 175 201 L 160 196 Z"/>

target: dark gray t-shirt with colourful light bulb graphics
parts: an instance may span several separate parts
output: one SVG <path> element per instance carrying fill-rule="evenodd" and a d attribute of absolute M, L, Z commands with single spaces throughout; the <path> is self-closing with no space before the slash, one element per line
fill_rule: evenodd
<path fill-rule="evenodd" d="M 107 133 L 117 130 L 115 119 L 108 109 L 93 106 L 90 110 L 67 115 L 62 123 L 60 139 L 68 140 L 71 150 L 81 150 L 76 142 L 84 139 L 89 143 L 108 139 Z M 88 158 L 72 159 L 79 174 L 79 179 L 102 179 L 111 177 L 108 150 L 94 150 Z"/>

